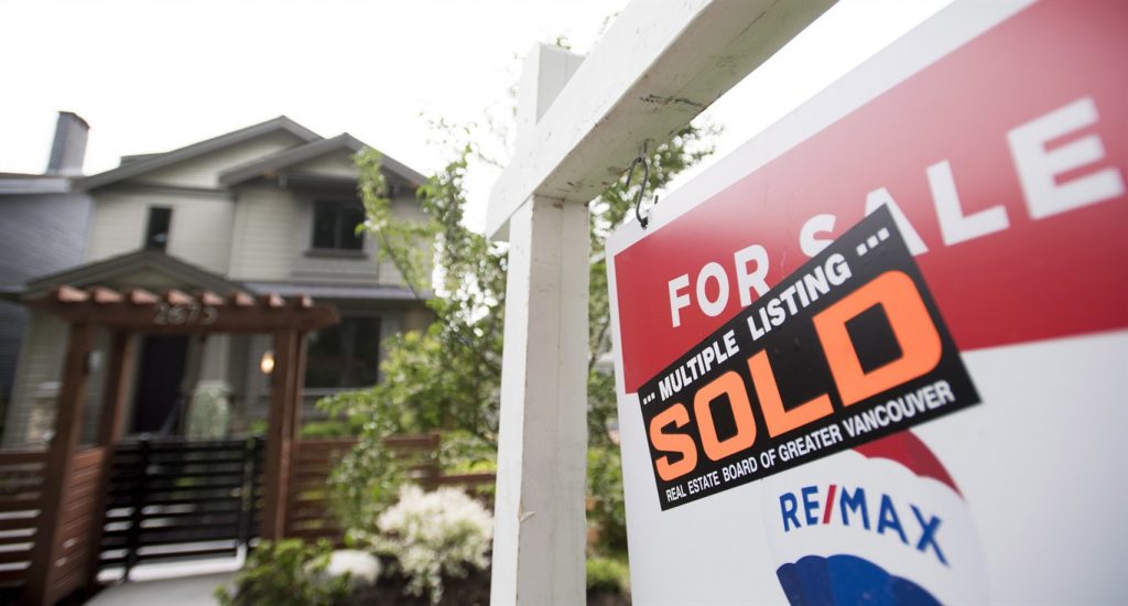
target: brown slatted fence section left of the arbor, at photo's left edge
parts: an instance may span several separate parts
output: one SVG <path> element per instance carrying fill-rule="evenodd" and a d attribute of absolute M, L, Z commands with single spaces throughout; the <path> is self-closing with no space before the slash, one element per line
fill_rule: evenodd
<path fill-rule="evenodd" d="M 16 595 L 27 582 L 39 501 L 45 450 L 0 450 L 0 588 Z"/>

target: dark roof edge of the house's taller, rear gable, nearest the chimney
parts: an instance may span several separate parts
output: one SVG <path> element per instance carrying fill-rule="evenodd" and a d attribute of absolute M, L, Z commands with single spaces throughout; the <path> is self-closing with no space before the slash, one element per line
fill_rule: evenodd
<path fill-rule="evenodd" d="M 258 124 L 247 126 L 245 129 L 239 129 L 237 131 L 229 132 L 227 134 L 221 134 L 219 137 L 213 137 L 205 141 L 200 141 L 199 143 L 192 143 L 173 151 L 165 153 L 153 153 L 153 155 L 141 155 L 135 157 L 133 161 L 127 161 L 117 168 L 106 170 L 105 173 L 98 173 L 97 175 L 91 175 L 89 177 L 76 179 L 76 190 L 92 190 L 95 187 L 103 187 L 122 179 L 135 177 L 142 175 L 150 170 L 156 170 L 158 168 L 164 168 L 166 166 L 171 166 L 184 160 L 188 160 L 205 153 L 211 153 L 213 151 L 228 148 L 244 141 L 249 141 L 256 139 L 264 134 L 270 134 L 272 132 L 288 132 L 294 137 L 301 139 L 306 143 L 314 141 L 320 141 L 321 135 L 316 132 L 298 124 L 297 122 L 290 120 L 287 116 L 279 116 L 274 120 L 267 120 L 266 122 L 261 122 Z"/>

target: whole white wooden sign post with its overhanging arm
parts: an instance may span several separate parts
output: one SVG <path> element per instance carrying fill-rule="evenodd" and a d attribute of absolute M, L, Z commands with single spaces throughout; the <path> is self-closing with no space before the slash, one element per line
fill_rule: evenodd
<path fill-rule="evenodd" d="M 832 3 L 638 0 L 582 63 L 534 50 L 486 226 L 511 241 L 493 604 L 584 599 L 588 202 Z"/>

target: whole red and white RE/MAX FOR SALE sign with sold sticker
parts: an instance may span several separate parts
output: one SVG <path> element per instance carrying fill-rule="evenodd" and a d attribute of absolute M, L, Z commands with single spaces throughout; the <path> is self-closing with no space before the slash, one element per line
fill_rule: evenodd
<path fill-rule="evenodd" d="M 1128 590 L 1126 33 L 957 2 L 613 236 L 637 603 Z"/>

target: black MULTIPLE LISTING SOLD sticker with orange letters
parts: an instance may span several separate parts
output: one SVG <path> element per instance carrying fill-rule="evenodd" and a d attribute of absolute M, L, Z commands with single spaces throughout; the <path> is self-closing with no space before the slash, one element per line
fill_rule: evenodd
<path fill-rule="evenodd" d="M 638 395 L 663 510 L 979 402 L 884 208 Z"/>

